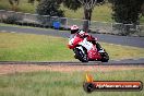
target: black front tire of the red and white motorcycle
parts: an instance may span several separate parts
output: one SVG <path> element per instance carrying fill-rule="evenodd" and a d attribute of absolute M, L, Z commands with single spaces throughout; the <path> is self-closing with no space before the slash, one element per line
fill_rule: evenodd
<path fill-rule="evenodd" d="M 74 49 L 75 57 L 82 62 L 88 62 L 88 58 L 86 53 L 83 53 L 80 49 Z"/>

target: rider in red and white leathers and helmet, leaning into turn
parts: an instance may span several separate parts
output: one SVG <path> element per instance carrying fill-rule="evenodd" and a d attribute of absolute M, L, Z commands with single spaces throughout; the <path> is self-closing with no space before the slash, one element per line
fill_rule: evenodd
<path fill-rule="evenodd" d="M 101 46 L 97 41 L 97 38 L 93 37 L 92 35 L 89 35 L 86 32 L 81 31 L 77 25 L 71 26 L 71 34 L 79 34 L 83 38 L 87 37 L 88 41 L 91 41 L 93 45 L 96 45 L 98 52 L 104 52 Z"/>

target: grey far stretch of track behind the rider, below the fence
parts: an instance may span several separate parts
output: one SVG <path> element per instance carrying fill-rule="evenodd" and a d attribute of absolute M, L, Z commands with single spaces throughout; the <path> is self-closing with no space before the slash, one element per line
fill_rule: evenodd
<path fill-rule="evenodd" d="M 35 27 L 24 28 L 19 26 L 0 26 L 0 31 L 38 34 L 38 35 L 51 35 L 51 36 L 60 36 L 60 37 L 70 36 L 70 33 L 67 31 L 41 29 Z M 106 35 L 106 34 L 92 34 L 92 35 L 97 37 L 99 41 L 144 48 L 144 37 L 115 36 L 115 35 Z"/>

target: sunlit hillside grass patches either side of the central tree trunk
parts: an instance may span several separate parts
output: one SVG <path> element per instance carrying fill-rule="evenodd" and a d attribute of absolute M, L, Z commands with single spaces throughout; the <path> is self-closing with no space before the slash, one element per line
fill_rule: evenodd
<path fill-rule="evenodd" d="M 92 20 L 93 21 L 103 21 L 103 22 L 112 22 L 112 20 L 111 20 L 112 10 L 110 9 L 110 7 L 111 5 L 108 3 L 106 3 L 104 5 L 95 7 L 93 14 L 92 14 Z M 65 16 L 68 16 L 68 17 L 83 19 L 83 16 L 84 16 L 83 8 L 79 9 L 77 11 L 72 11 L 72 10 L 69 10 L 62 5 L 61 9 L 64 10 Z"/>

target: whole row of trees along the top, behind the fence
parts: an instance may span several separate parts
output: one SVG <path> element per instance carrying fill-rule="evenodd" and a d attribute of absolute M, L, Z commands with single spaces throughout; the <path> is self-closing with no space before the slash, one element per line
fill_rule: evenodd
<path fill-rule="evenodd" d="M 83 7 L 83 19 L 89 21 L 95 5 L 101 5 L 106 2 L 106 0 L 27 0 L 28 3 L 34 3 L 35 1 L 39 2 L 36 12 L 40 15 L 64 16 L 64 11 L 60 9 L 60 5 L 63 4 L 74 11 Z M 118 23 L 139 24 L 140 17 L 144 16 L 144 0 L 107 1 L 112 4 L 112 19 Z M 16 10 L 21 0 L 9 0 L 12 10 Z"/>

